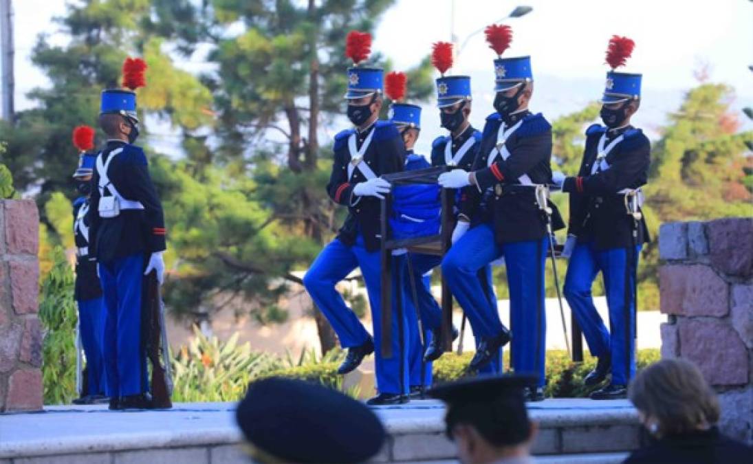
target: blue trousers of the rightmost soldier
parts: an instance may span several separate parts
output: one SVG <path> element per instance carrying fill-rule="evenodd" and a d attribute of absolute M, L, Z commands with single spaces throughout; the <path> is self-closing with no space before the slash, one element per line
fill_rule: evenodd
<path fill-rule="evenodd" d="M 636 374 L 635 274 L 638 255 L 636 246 L 633 266 L 630 267 L 627 248 L 614 248 L 602 252 L 593 249 L 592 243 L 579 243 L 570 257 L 565 277 L 565 298 L 581 326 L 588 348 L 593 356 L 611 355 L 612 383 L 626 385 Z M 609 327 L 602 321 L 591 298 L 591 285 L 601 271 L 609 308 Z"/>

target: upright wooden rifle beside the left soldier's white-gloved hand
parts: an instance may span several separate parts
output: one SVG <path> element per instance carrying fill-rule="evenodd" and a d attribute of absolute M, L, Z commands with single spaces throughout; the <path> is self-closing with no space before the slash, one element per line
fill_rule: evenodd
<path fill-rule="evenodd" d="M 160 282 L 157 272 L 152 271 L 144 277 L 145 300 L 142 317 L 145 333 L 146 356 L 151 362 L 151 395 L 154 408 L 172 408 L 172 372 L 170 369 L 169 346 L 165 329 L 165 306 L 160 297 Z M 161 346 L 160 346 L 161 345 Z M 161 347 L 161 350 L 160 350 Z M 162 362 L 160 362 L 160 351 Z M 163 364 L 164 363 L 164 364 Z"/>

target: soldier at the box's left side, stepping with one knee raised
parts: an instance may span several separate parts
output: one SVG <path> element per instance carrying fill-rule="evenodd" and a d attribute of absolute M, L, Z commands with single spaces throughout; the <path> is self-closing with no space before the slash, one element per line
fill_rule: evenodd
<path fill-rule="evenodd" d="M 360 34 L 359 32 L 349 33 Z M 367 53 L 366 53 L 367 55 Z M 361 58 L 363 60 L 364 58 Z M 404 169 L 405 148 L 398 128 L 389 121 L 378 121 L 383 103 L 383 70 L 356 66 L 348 69 L 347 116 L 353 129 L 334 138 L 334 163 L 327 185 L 335 203 L 348 207 L 345 224 L 337 238 L 325 246 L 311 264 L 303 285 L 312 300 L 331 323 L 340 345 L 348 349 L 339 374 L 353 371 L 364 357 L 376 350 L 378 394 L 368 404 L 397 404 L 408 401 L 406 322 L 398 317 L 396 298 L 401 288 L 393 288 L 392 302 L 380 301 L 380 199 L 390 184 L 380 176 Z M 401 259 L 395 260 L 396 272 Z M 371 307 L 373 338 L 346 306 L 335 285 L 355 267 L 361 268 Z M 383 304 L 384 303 L 384 304 Z M 392 356 L 381 353 L 381 311 L 392 311 Z"/>

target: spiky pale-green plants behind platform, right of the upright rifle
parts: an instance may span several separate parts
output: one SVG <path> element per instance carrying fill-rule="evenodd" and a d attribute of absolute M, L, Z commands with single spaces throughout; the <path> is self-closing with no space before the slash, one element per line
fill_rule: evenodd
<path fill-rule="evenodd" d="M 239 345 L 238 337 L 221 342 L 194 326 L 194 339 L 172 361 L 173 401 L 238 401 L 248 382 L 279 368 L 279 359 Z"/>

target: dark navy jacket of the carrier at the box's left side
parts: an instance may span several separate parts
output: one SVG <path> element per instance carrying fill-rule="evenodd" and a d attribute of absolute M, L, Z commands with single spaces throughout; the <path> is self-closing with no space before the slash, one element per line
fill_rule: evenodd
<path fill-rule="evenodd" d="M 400 172 L 405 165 L 405 145 L 398 133 L 398 128 L 391 121 L 377 121 L 363 133 L 356 134 L 356 147 L 361 148 L 369 133 L 373 131 L 371 143 L 364 153 L 364 163 L 377 176 Z M 364 236 L 367 251 L 375 252 L 381 246 L 381 205 L 377 197 L 358 197 L 353 188 L 359 182 L 366 182 L 360 169 L 353 169 L 353 176 L 348 179 L 350 152 L 348 139 L 355 129 L 343 130 L 334 136 L 334 163 L 327 185 L 327 192 L 335 203 L 348 206 L 348 217 L 340 227 L 337 238 L 348 246 L 355 243 L 356 234 Z"/>

